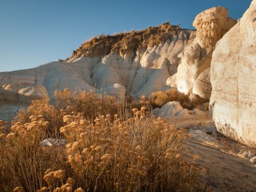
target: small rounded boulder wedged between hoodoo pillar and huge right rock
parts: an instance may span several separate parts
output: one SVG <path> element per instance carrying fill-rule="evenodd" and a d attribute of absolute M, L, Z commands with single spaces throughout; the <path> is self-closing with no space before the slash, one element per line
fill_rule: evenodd
<path fill-rule="evenodd" d="M 193 86 L 193 94 L 199 95 L 201 98 L 210 100 L 212 93 L 212 84 L 210 82 L 210 68 L 207 68 L 195 80 Z"/>

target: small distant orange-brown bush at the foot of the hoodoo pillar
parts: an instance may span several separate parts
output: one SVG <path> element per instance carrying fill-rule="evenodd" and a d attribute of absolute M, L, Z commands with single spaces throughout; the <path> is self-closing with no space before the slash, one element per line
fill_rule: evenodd
<path fill-rule="evenodd" d="M 147 98 L 147 101 L 153 106 L 153 108 L 161 108 L 164 104 L 170 101 L 180 102 L 183 108 L 189 110 L 195 107 L 195 103 L 189 99 L 189 95 L 179 92 L 177 89 L 168 90 L 166 92 L 152 92 Z"/>

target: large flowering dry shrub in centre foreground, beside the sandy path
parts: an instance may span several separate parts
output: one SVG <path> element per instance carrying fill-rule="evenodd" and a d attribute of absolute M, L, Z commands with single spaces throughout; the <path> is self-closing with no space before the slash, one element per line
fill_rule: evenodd
<path fill-rule="evenodd" d="M 99 116 L 94 124 L 65 116 L 60 129 L 69 143 L 67 161 L 78 186 L 88 191 L 191 191 L 199 172 L 180 153 L 187 135 L 162 119 L 148 116 L 146 107 L 133 117 Z"/>

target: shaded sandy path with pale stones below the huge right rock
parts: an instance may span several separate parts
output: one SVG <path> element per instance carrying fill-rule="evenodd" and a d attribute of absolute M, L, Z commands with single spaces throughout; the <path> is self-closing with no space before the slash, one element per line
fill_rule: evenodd
<path fill-rule="evenodd" d="M 191 136 L 185 145 L 185 158 L 196 154 L 197 162 L 207 170 L 201 181 L 205 191 L 256 191 L 256 164 L 250 161 L 256 156 L 255 148 L 218 133 L 208 115 L 170 119 L 170 123 L 187 129 Z"/>

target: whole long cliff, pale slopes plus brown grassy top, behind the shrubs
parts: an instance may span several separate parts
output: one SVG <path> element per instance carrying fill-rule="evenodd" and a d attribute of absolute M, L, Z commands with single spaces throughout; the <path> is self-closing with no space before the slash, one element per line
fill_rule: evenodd
<path fill-rule="evenodd" d="M 1 113 L 5 113 L 4 108 L 9 107 L 8 103 L 13 106 L 13 103 L 19 103 L 19 107 L 8 111 L 11 114 L 9 118 L 22 106 L 27 106 L 30 98 L 40 99 L 41 94 L 42 98 L 47 94 L 51 99 L 55 90 L 65 88 L 72 92 L 104 92 L 116 96 L 119 101 L 124 100 L 125 93 L 140 98 L 152 92 L 168 90 L 170 86 L 166 85 L 166 79 L 177 73 L 180 61 L 178 55 L 194 37 L 193 30 L 162 24 L 157 28 L 85 42 L 65 62 L 0 73 L 0 88 L 12 84 L 7 86 L 9 100 L 5 100 L 5 95 L 0 96 L 0 119 Z M 24 84 L 26 87 L 17 91 L 15 84 Z M 45 90 L 40 92 L 34 86 L 44 87 Z"/>

